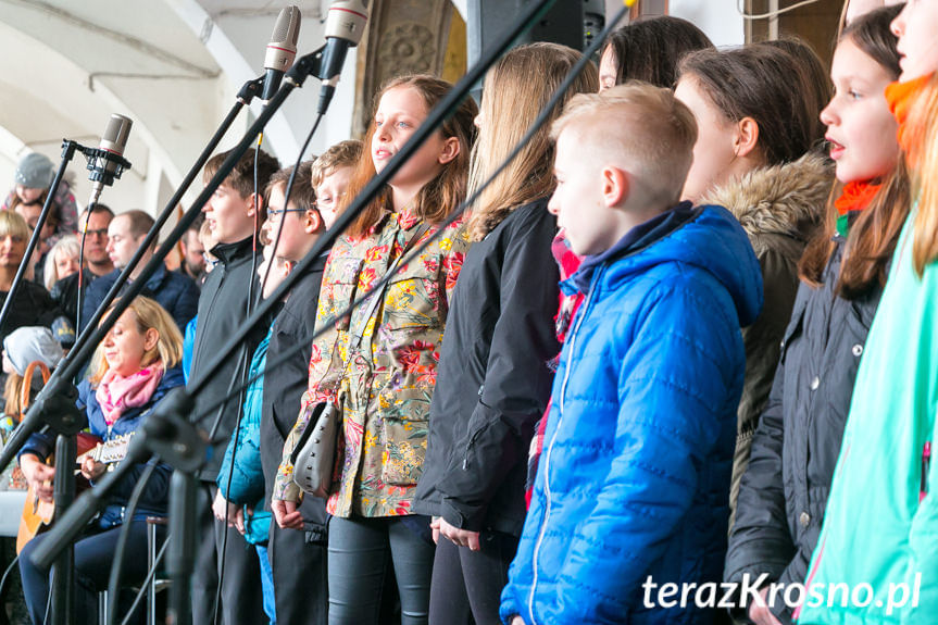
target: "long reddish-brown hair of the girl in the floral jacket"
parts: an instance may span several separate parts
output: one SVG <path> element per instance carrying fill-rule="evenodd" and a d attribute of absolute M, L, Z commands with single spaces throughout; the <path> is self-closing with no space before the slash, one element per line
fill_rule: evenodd
<path fill-rule="evenodd" d="M 375 102 L 372 108 L 372 120 L 374 120 L 382 97 L 398 87 L 414 89 L 420 93 L 424 104 L 426 104 L 427 111 L 430 111 L 446 97 L 452 88 L 452 84 L 428 74 L 415 74 L 393 78 L 375 96 Z M 439 174 L 433 180 L 423 186 L 414 199 L 414 211 L 422 220 L 429 223 L 439 223 L 447 218 L 465 199 L 470 152 L 475 139 L 473 120 L 475 120 L 477 113 L 478 107 L 476 107 L 476 103 L 472 99 L 466 98 L 455 112 L 437 129 L 445 138 L 455 137 L 459 139 L 460 150 L 452 161 L 442 166 Z M 374 134 L 375 124 L 372 123 L 362 141 L 362 154 L 349 180 L 349 188 L 340 204 L 339 212 L 345 211 L 375 176 L 375 162 L 372 159 L 371 150 Z M 389 186 L 386 186 L 364 208 L 358 220 L 349 226 L 347 234 L 352 237 L 367 235 L 378 223 L 385 207 L 390 202 L 390 197 L 391 189 Z"/>

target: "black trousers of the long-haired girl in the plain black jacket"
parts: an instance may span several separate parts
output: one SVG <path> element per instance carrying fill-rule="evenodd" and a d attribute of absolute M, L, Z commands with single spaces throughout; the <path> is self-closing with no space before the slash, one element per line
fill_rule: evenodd
<path fill-rule="evenodd" d="M 434 560 L 430 625 L 500 625 L 501 591 L 517 551 L 516 536 L 486 532 L 479 551 L 440 536 Z"/>

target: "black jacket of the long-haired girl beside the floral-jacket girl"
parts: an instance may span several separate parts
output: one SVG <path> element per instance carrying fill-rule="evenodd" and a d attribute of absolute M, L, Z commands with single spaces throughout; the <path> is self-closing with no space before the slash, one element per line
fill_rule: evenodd
<path fill-rule="evenodd" d="M 521 535 L 528 447 L 560 351 L 555 234 L 542 199 L 470 248 L 443 335 L 415 512 Z"/>

